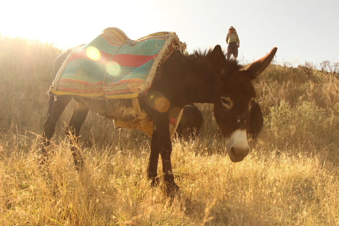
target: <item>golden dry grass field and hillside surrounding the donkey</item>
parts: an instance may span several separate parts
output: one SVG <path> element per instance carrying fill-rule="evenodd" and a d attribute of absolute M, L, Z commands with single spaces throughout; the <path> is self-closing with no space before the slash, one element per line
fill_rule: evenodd
<path fill-rule="evenodd" d="M 199 138 L 173 142 L 180 191 L 171 198 L 146 178 L 150 139 L 93 113 L 78 173 L 63 130 L 71 106 L 39 167 L 61 50 L 1 35 L 0 49 L 0 225 L 339 225 L 337 69 L 270 65 L 255 81 L 264 128 L 240 163 L 225 153 L 213 106 L 198 104 Z"/>

